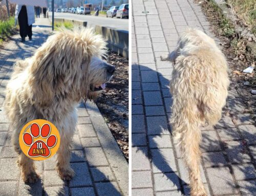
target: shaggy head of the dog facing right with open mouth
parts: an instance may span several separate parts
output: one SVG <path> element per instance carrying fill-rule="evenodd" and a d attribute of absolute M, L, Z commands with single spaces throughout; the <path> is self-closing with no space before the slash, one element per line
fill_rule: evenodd
<path fill-rule="evenodd" d="M 106 42 L 92 29 L 59 29 L 31 58 L 31 99 L 49 105 L 54 99 L 94 98 L 115 70 L 101 60 L 105 56 Z"/>

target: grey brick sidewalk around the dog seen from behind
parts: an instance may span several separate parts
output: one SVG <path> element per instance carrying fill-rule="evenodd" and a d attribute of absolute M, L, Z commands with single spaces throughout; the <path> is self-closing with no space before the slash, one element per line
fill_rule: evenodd
<path fill-rule="evenodd" d="M 187 169 L 168 125 L 172 98 L 167 86 L 173 68 L 160 55 L 175 48 L 187 26 L 215 37 L 193 0 L 132 4 L 132 195 L 188 195 Z M 201 170 L 208 195 L 256 195 L 256 128 L 232 88 L 222 120 L 204 128 L 202 135 Z"/>

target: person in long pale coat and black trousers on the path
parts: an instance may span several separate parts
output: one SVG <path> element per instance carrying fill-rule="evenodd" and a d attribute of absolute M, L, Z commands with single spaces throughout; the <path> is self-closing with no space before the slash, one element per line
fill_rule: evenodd
<path fill-rule="evenodd" d="M 32 6 L 16 5 L 15 9 L 15 26 L 19 24 L 19 35 L 22 37 L 22 41 L 25 41 L 25 37 L 32 39 L 32 24 L 35 23 L 35 12 Z"/>

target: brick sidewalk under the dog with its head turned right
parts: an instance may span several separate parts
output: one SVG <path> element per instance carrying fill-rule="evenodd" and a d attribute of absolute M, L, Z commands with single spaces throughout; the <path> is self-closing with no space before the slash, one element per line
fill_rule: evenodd
<path fill-rule="evenodd" d="M 16 60 L 30 57 L 51 32 L 49 20 L 36 19 L 33 40 L 20 42 L 19 35 L 0 50 L 0 195 L 128 195 L 128 164 L 97 106 L 87 102 L 78 107 L 78 131 L 74 135 L 71 167 L 75 177 L 62 181 L 54 167 L 55 157 L 36 161 L 40 180 L 25 184 L 11 145 L 11 133 L 4 115 L 5 86 Z"/>

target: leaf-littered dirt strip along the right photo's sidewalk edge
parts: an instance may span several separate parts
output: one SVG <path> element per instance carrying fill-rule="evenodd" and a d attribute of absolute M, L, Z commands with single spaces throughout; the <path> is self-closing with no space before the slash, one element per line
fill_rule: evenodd
<path fill-rule="evenodd" d="M 251 90 L 256 90 L 255 59 L 246 47 L 247 42 L 255 40 L 241 38 L 236 33 L 227 35 L 224 32 L 222 20 L 210 3 L 201 1 L 201 6 L 211 24 L 212 32 L 220 39 L 222 51 L 227 58 L 231 80 L 230 89 L 238 92 L 247 106 L 245 112 L 250 113 L 251 117 L 256 120 L 256 95 L 251 94 Z M 249 66 L 254 67 L 253 72 L 243 73 L 243 70 Z"/>

